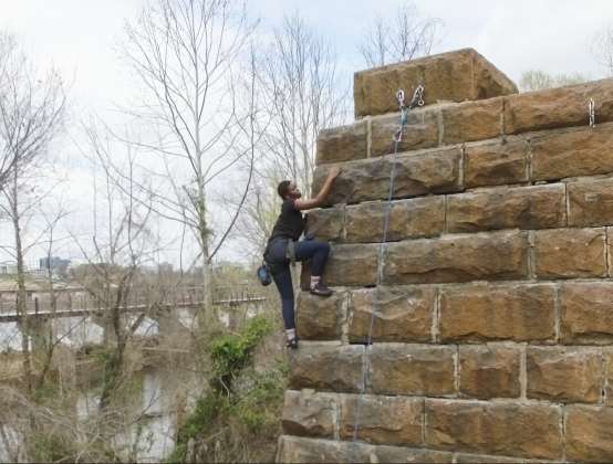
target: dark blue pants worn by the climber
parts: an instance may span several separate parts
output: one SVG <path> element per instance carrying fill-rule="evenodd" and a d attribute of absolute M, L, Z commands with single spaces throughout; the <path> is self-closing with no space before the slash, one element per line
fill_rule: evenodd
<path fill-rule="evenodd" d="M 283 320 L 285 323 L 285 329 L 295 329 L 295 313 L 293 302 L 293 286 L 292 274 L 290 272 L 290 260 L 285 257 L 288 251 L 287 239 L 281 239 L 272 244 L 270 250 L 264 256 L 264 260 L 272 275 L 272 280 L 281 294 L 281 308 L 283 312 Z M 325 263 L 328 262 L 328 255 L 330 254 L 330 244 L 322 241 L 302 241 L 294 242 L 293 251 L 295 261 L 313 260 L 313 267 L 311 275 L 313 277 L 321 277 Z"/>

